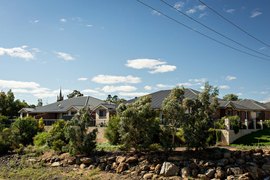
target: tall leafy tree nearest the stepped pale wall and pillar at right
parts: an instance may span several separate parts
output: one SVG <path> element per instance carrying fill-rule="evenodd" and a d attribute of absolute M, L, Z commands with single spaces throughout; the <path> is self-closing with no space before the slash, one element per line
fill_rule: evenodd
<path fill-rule="evenodd" d="M 208 84 L 206 84 L 208 86 Z M 197 99 L 186 98 L 183 101 L 185 110 L 189 110 L 186 119 L 181 126 L 182 137 L 186 141 L 187 148 L 205 148 L 208 137 L 208 118 L 219 109 L 217 97 L 209 102 L 208 91 L 203 91 L 197 95 Z"/>

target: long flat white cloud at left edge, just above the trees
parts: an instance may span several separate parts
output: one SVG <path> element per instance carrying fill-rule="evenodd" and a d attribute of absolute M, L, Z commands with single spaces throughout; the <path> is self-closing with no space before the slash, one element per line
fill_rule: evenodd
<path fill-rule="evenodd" d="M 0 86 L 3 88 L 38 88 L 39 84 L 35 82 L 5 81 L 0 79 Z"/>

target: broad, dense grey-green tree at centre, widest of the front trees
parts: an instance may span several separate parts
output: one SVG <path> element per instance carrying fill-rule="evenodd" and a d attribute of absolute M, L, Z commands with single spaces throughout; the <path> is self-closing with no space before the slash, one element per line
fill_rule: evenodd
<path fill-rule="evenodd" d="M 134 103 L 120 104 L 117 115 L 120 117 L 119 134 L 126 147 L 147 148 L 152 143 L 153 135 L 159 129 L 156 119 L 157 110 L 150 109 L 151 96 L 145 95 Z"/>

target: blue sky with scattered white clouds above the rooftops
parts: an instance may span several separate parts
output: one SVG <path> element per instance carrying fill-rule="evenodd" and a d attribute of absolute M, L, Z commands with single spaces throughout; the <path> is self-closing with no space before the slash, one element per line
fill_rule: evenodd
<path fill-rule="evenodd" d="M 246 49 L 187 18 L 162 1 L 142 0 L 191 29 L 252 55 L 270 59 L 270 1 L 165 1 Z M 16 99 L 64 99 L 73 90 L 98 99 L 129 99 L 206 81 L 220 98 L 270 100 L 269 60 L 217 43 L 136 0 L 1 1 L 0 89 Z M 43 101 L 44 103 L 44 101 Z"/>

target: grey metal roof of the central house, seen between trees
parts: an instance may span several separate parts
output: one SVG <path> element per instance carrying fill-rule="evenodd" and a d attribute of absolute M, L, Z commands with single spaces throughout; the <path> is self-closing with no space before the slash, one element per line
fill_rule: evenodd
<path fill-rule="evenodd" d="M 161 109 L 161 105 L 162 105 L 162 102 L 163 100 L 169 96 L 169 94 L 172 92 L 172 90 L 161 90 L 161 91 L 157 91 L 157 92 L 154 92 L 154 93 L 151 93 L 149 95 L 151 95 L 152 99 L 151 99 L 151 106 L 150 108 L 151 109 Z M 196 94 L 199 94 L 200 92 L 199 91 L 196 91 L 194 89 L 189 89 L 189 88 L 185 88 L 185 98 L 190 98 L 190 99 L 197 99 L 197 96 Z M 210 96 L 209 97 L 209 102 L 212 103 L 212 98 L 213 96 Z M 128 103 L 133 103 L 135 99 L 130 99 L 128 101 L 125 101 L 125 102 L 121 102 L 119 104 L 128 104 Z M 224 102 L 223 99 L 220 99 L 218 98 L 218 101 L 222 101 Z M 115 108 L 113 108 L 112 110 L 115 110 L 119 104 L 116 104 L 115 105 Z"/>

